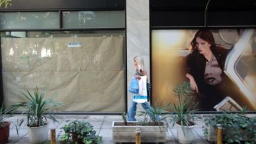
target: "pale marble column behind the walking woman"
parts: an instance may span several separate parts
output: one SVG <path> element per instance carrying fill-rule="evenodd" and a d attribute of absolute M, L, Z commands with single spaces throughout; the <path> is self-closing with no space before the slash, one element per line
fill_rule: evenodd
<path fill-rule="evenodd" d="M 127 86 L 135 73 L 133 57 L 142 56 L 145 68 L 149 71 L 149 0 L 126 1 L 126 30 L 127 30 Z M 127 92 L 128 110 L 132 101 L 132 94 Z M 142 111 L 138 104 L 137 111 Z"/>

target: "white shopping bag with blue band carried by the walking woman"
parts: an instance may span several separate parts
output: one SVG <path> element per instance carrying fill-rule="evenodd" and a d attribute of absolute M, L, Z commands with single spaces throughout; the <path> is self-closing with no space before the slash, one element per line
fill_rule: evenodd
<path fill-rule="evenodd" d="M 140 76 L 139 79 L 139 94 L 133 95 L 133 101 L 136 103 L 145 103 L 148 101 L 148 94 L 147 94 L 147 87 L 146 82 L 147 78 L 146 76 Z"/>

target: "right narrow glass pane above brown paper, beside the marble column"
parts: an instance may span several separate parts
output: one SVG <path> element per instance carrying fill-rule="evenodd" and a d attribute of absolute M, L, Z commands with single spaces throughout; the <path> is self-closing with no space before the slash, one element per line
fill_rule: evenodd
<path fill-rule="evenodd" d="M 64 28 L 124 28 L 124 11 L 64 11 Z"/>

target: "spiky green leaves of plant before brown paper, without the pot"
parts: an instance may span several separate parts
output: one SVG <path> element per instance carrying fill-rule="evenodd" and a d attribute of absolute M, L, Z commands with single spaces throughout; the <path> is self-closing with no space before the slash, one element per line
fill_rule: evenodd
<path fill-rule="evenodd" d="M 27 119 L 27 126 L 39 127 L 46 124 L 47 119 L 52 119 L 53 122 L 58 122 L 54 112 L 57 112 L 57 107 L 62 103 L 55 101 L 55 96 L 49 99 L 45 98 L 46 88 L 39 91 L 36 87 L 34 94 L 27 90 L 27 94 L 21 92 L 25 101 L 10 106 L 10 111 L 22 111 L 21 114 L 26 114 L 27 117 L 20 120 L 20 125 Z"/>

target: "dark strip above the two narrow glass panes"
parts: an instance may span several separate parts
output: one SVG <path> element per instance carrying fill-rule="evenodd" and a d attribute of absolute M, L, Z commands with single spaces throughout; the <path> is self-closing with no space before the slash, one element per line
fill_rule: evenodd
<path fill-rule="evenodd" d="M 10 5 L 11 4 L 11 5 Z M 2 4 L 0 11 L 24 11 L 43 9 L 89 9 L 89 10 L 115 10 L 125 9 L 125 0 L 12 0 L 7 8 Z"/>

